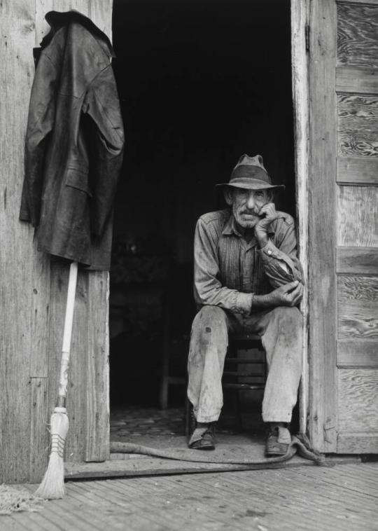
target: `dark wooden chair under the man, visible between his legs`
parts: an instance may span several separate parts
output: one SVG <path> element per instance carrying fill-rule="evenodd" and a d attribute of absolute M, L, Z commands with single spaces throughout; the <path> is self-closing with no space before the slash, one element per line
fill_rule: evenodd
<path fill-rule="evenodd" d="M 242 350 L 255 350 L 255 355 L 250 357 L 239 356 Z M 248 366 L 245 368 L 245 366 Z M 244 366 L 244 367 L 240 367 Z M 252 367 L 251 367 L 252 366 Z M 267 370 L 265 351 L 262 348 L 261 338 L 253 333 L 232 334 L 229 336 L 228 352 L 225 357 L 222 387 L 234 392 L 235 412 L 240 429 L 243 426 L 240 407 L 240 392 L 264 389 Z M 193 406 L 186 398 L 186 436 L 187 438 L 195 429 Z"/>

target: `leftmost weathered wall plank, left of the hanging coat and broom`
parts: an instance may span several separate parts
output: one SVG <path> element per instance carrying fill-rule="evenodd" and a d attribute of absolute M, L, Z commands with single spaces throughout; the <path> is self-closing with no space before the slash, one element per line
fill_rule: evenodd
<path fill-rule="evenodd" d="M 0 477 L 16 482 L 29 476 L 29 375 L 41 373 L 38 361 L 45 357 L 45 258 L 36 254 L 34 230 L 18 219 L 34 74 L 34 1 L 0 3 L 0 25 Z"/>

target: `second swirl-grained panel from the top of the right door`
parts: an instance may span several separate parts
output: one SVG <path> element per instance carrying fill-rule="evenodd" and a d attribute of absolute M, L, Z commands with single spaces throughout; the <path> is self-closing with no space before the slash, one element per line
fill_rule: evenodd
<path fill-rule="evenodd" d="M 339 155 L 378 158 L 378 95 L 337 96 Z"/>

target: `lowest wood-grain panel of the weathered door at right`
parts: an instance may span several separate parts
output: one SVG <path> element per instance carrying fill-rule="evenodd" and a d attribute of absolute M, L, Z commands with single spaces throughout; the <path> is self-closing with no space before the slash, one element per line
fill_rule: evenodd
<path fill-rule="evenodd" d="M 378 369 L 340 368 L 339 432 L 378 432 Z"/>

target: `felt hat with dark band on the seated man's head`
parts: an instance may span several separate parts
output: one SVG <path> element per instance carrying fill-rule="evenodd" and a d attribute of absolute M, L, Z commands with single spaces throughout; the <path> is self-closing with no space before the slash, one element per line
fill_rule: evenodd
<path fill-rule="evenodd" d="M 234 186 L 248 190 L 262 190 L 263 188 L 285 188 L 283 184 L 272 184 L 267 170 L 265 170 L 261 155 L 250 157 L 242 155 L 237 165 L 232 170 L 228 183 L 219 183 L 216 186 Z"/>

